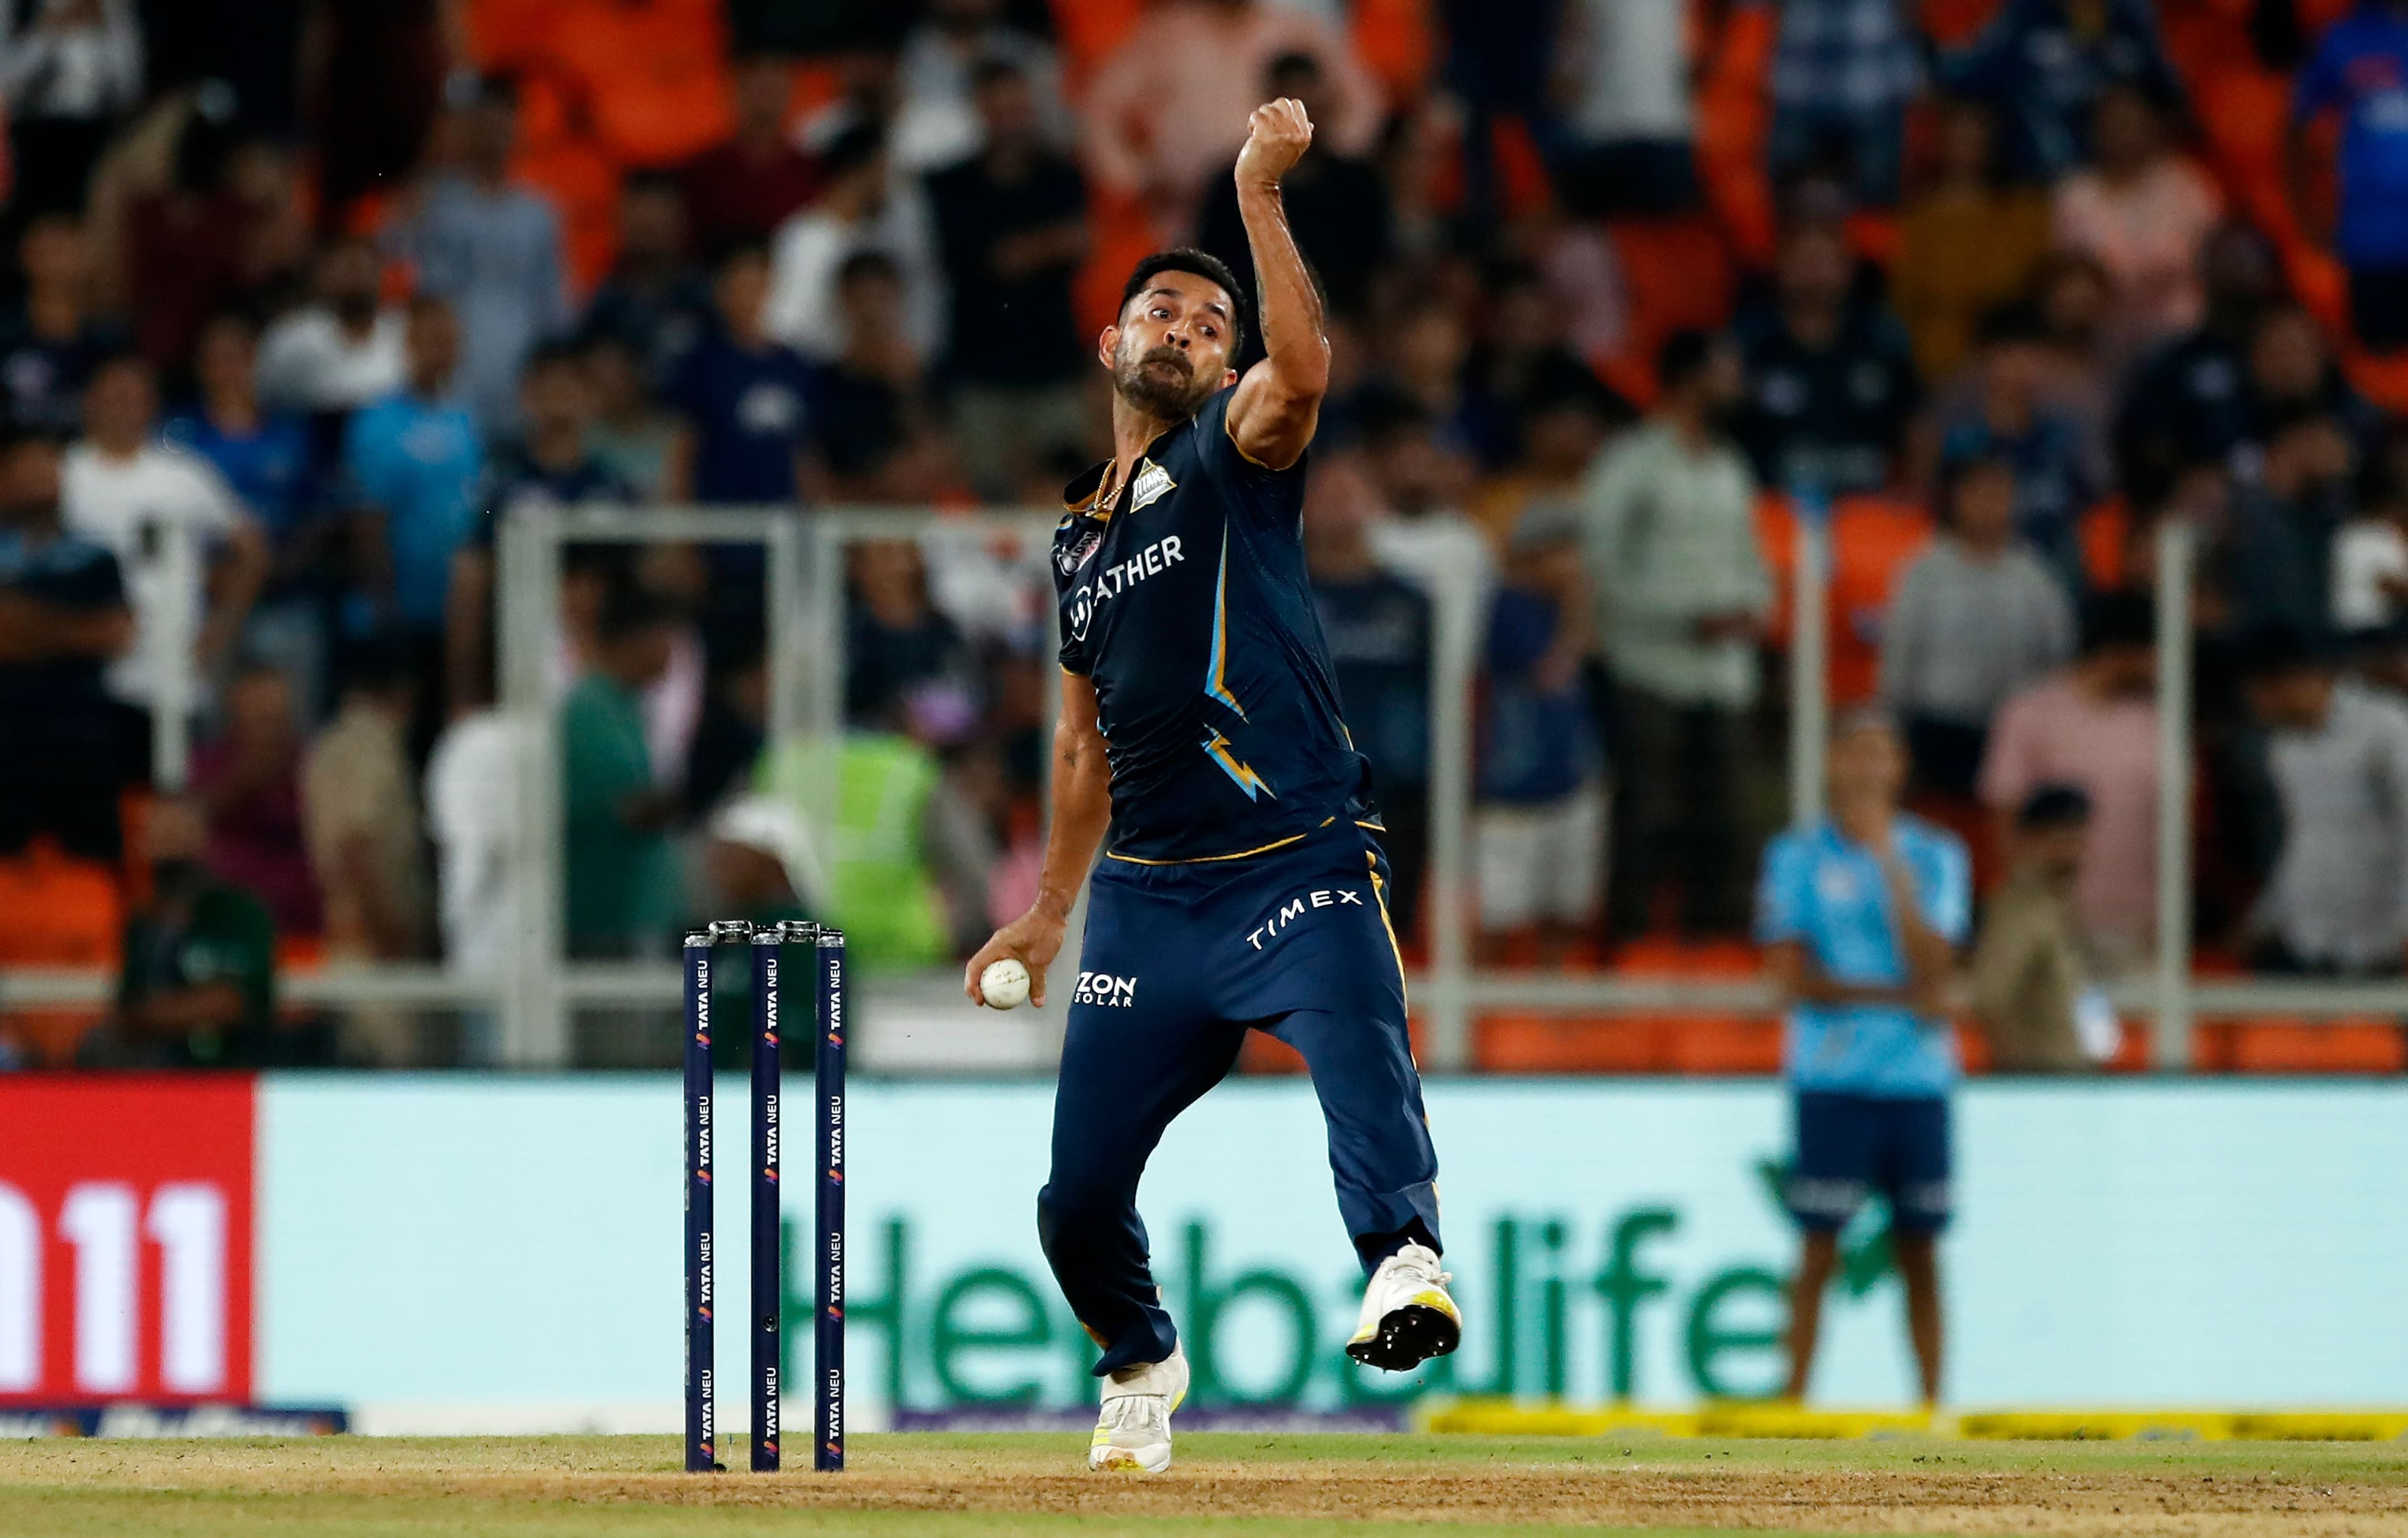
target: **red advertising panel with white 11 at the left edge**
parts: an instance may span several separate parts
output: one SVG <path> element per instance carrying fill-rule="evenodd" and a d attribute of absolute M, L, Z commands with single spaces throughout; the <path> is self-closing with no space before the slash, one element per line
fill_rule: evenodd
<path fill-rule="evenodd" d="M 253 1081 L 0 1083 L 0 1406 L 250 1398 Z"/>

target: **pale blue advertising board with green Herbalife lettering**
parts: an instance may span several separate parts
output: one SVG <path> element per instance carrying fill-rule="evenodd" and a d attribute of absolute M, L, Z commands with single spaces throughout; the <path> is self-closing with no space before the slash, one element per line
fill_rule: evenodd
<path fill-rule="evenodd" d="M 1361 1273 L 1310 1086 L 1230 1083 L 1170 1129 L 1141 1208 L 1199 1408 L 1777 1386 L 1794 1249 L 1777 1086 L 1452 1081 L 1428 1100 L 1469 1329 L 1454 1360 L 1401 1379 L 1339 1350 Z M 677 1105 L 653 1076 L 267 1078 L 255 1398 L 344 1406 L 364 1430 L 674 1427 Z M 749 1146 L 744 1105 L 722 1081 L 727 1148 Z M 1091 1403 L 1093 1348 L 1035 1242 L 1050 1114 L 1043 1083 L 857 1086 L 855 1425 Z M 1977 1083 L 1955 1153 L 1955 1403 L 2401 1396 L 2408 1090 Z M 797 1196 L 785 1312 L 807 1355 Z M 720 1208 L 722 1307 L 742 1317 L 742 1196 Z M 1878 1220 L 1847 1235 L 1835 1288 L 1816 1396 L 1905 1403 Z M 739 1331 L 720 1348 L 739 1382 Z M 742 1406 L 720 1410 L 742 1430 Z"/>

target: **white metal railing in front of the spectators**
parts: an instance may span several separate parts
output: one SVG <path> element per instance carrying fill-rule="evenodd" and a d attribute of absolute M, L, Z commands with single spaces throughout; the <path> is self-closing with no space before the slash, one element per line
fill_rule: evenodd
<path fill-rule="evenodd" d="M 282 996 L 301 1006 L 417 1006 L 494 1011 L 498 1030 L 496 1057 L 513 1066 L 561 1066 L 568 1061 L 568 1011 L 592 1006 L 669 1008 L 679 999 L 679 972 L 672 960 L 657 963 L 563 963 L 561 960 L 561 809 L 559 753 L 547 686 L 547 659 L 559 635 L 559 551 L 568 542 L 677 542 L 677 544 L 759 544 L 768 568 L 768 674 L 771 739 L 833 734 L 843 724 L 845 628 L 843 628 L 843 556 L 857 539 L 917 539 L 937 530 L 973 532 L 1007 539 L 1035 539 L 1043 549 L 1055 517 L 1050 513 L 939 515 L 896 508 L 836 508 L 797 517 L 775 508 L 527 508 L 513 513 L 501 532 L 498 638 L 503 710 L 523 724 L 532 744 L 532 763 L 515 775 L 520 869 L 513 948 L 515 965 L 506 975 L 467 975 L 460 970 L 409 965 L 330 965 L 284 980 Z M 197 558 L 197 556 L 195 556 Z M 1792 647 L 1789 647 L 1789 809 L 1799 821 L 1820 811 L 1823 734 L 1830 717 L 1828 698 L 1828 599 L 1830 599 L 1830 527 L 1811 501 L 1796 520 L 1796 561 L 1792 570 Z M 2191 573 L 2196 537 L 2186 525 L 2170 522 L 2158 534 L 2158 703 L 2160 703 L 2160 801 L 2158 801 L 2158 958 L 2146 977 L 2112 989 L 2126 1013 L 2153 1016 L 2155 1061 L 2160 1069 L 2184 1069 L 2191 1061 L 2191 1023 L 2199 1018 L 2235 1018 L 2280 1013 L 2295 1018 L 2408 1016 L 2408 982 L 2307 982 L 2307 980 L 2215 980 L 2191 977 L 2189 874 L 2191 874 Z M 1483 1008 L 1527 1013 L 1613 1016 L 1613 1013 L 1758 1013 L 1772 1008 L 1770 994 L 1755 982 L 1707 980 L 1630 980 L 1597 975 L 1498 972 L 1471 965 L 1471 647 L 1457 645 L 1479 626 L 1469 599 L 1459 592 L 1435 592 L 1438 645 L 1430 681 L 1430 965 L 1411 977 L 1416 1008 L 1430 1028 L 1430 1066 L 1462 1071 L 1471 1066 L 1471 1018 Z M 1045 604 L 1052 614 L 1052 604 Z M 164 628 L 173 631 L 173 626 Z M 161 662 L 159 708 L 197 700 L 190 672 L 193 647 L 152 638 Z M 1052 688 L 1060 679 L 1045 669 Z M 1050 700 L 1057 705 L 1057 693 Z M 1050 712 L 1047 712 L 1050 715 Z M 161 722 L 166 724 L 166 722 Z M 161 770 L 169 782 L 181 777 L 181 732 L 164 732 Z M 1043 756 L 1050 765 L 1050 753 Z M 1050 980 L 1055 996 L 1067 996 L 1076 968 L 1079 915 L 1072 917 L 1072 943 Z M 0 1008 L 89 1008 L 104 1006 L 113 980 L 94 970 L 14 968 L 0 970 Z M 1060 1011 L 1047 1011 L 1060 1021 Z M 864 1028 L 874 1033 L 874 1011 Z M 1057 1049 L 1052 1035 L 1028 1037 L 1026 1064 L 1043 1069 Z"/>

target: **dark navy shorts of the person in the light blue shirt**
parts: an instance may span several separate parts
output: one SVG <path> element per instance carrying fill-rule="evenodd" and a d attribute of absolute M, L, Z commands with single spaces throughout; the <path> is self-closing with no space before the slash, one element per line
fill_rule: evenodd
<path fill-rule="evenodd" d="M 1796 1134 L 1787 1196 L 1799 1228 L 1837 1232 L 1866 1194 L 1890 1203 L 1898 1232 L 1948 1228 L 1948 1100 L 1799 1090 Z"/>

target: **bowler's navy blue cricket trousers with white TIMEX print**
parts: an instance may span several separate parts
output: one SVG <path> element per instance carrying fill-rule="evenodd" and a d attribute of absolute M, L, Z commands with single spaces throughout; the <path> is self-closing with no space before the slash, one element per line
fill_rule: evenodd
<path fill-rule="evenodd" d="M 1339 1218 L 1365 1268 L 1406 1242 L 1438 1247 L 1438 1153 L 1385 888 L 1375 835 L 1344 818 L 1247 859 L 1108 857 L 1096 869 L 1038 1237 L 1103 1345 L 1098 1377 L 1178 1343 L 1137 1179 L 1170 1119 L 1238 1061 L 1247 1030 L 1269 1030 L 1312 1069 Z"/>

